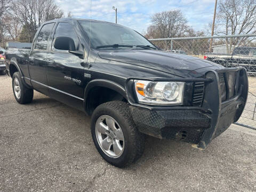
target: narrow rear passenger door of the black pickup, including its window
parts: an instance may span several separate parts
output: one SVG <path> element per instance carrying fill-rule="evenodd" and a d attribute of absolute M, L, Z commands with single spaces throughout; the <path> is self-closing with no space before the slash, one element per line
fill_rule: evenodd
<path fill-rule="evenodd" d="M 38 33 L 34 47 L 29 54 L 29 75 L 34 89 L 48 95 L 46 78 L 47 44 L 53 23 L 46 23 Z"/>

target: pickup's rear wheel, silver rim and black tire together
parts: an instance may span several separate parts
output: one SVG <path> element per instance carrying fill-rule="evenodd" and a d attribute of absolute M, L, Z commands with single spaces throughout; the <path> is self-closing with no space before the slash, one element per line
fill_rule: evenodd
<path fill-rule="evenodd" d="M 30 103 L 33 99 L 34 90 L 28 89 L 21 81 L 19 72 L 15 72 L 12 76 L 12 89 L 15 99 L 21 103 Z"/>

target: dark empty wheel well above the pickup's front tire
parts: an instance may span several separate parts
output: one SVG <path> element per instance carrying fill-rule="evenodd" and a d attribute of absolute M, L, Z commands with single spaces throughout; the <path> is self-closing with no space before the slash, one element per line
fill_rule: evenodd
<path fill-rule="evenodd" d="M 95 108 L 108 101 L 127 102 L 122 94 L 106 87 L 97 86 L 93 87 L 88 93 L 85 110 L 87 111 L 87 114 L 91 115 Z"/>

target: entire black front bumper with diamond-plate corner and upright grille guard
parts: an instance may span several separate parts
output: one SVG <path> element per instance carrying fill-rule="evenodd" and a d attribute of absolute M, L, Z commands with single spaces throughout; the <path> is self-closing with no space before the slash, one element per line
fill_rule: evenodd
<path fill-rule="evenodd" d="M 234 97 L 221 101 L 218 73 L 233 71 L 239 73 L 237 92 Z M 173 110 L 170 107 L 165 110 L 163 107 L 158 110 L 130 106 L 139 131 L 157 138 L 193 143 L 193 147 L 205 149 L 212 139 L 238 120 L 245 107 L 248 92 L 247 74 L 242 67 L 209 71 L 205 78 L 212 81 L 205 83 L 202 107 L 173 107 Z"/>

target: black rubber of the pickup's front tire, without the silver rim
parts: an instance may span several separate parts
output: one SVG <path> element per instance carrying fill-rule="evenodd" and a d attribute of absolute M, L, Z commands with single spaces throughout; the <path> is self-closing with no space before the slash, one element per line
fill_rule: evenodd
<path fill-rule="evenodd" d="M 113 117 L 120 125 L 124 135 L 124 150 L 117 158 L 110 157 L 104 153 L 99 146 L 95 133 L 95 124 L 99 117 L 108 115 Z M 91 117 L 91 133 L 95 147 L 100 155 L 110 164 L 117 167 L 125 167 L 137 161 L 143 154 L 145 148 L 145 135 L 140 133 L 135 126 L 129 105 L 122 101 L 110 101 L 98 106 Z"/>

